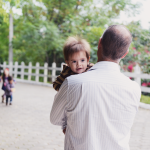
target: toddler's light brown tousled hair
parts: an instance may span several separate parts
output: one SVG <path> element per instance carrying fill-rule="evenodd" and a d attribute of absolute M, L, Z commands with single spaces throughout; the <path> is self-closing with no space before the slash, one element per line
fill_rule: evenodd
<path fill-rule="evenodd" d="M 85 51 L 87 59 L 90 56 L 90 44 L 85 40 L 79 37 L 69 37 L 63 48 L 65 60 L 69 60 L 69 57 L 76 52 Z"/>

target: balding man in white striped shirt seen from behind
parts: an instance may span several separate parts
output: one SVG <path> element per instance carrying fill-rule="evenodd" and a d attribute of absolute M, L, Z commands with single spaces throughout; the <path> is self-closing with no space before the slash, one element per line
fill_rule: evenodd
<path fill-rule="evenodd" d="M 108 27 L 99 40 L 98 62 L 62 84 L 50 120 L 66 127 L 65 150 L 129 150 L 141 90 L 118 64 L 131 41 L 124 26 Z"/>

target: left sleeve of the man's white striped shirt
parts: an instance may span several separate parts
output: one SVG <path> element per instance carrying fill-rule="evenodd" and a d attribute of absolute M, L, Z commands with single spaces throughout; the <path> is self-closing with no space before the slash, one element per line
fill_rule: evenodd
<path fill-rule="evenodd" d="M 53 106 L 50 113 L 50 122 L 54 125 L 66 127 L 66 112 L 68 104 L 68 81 L 65 79 L 59 92 L 55 95 Z"/>

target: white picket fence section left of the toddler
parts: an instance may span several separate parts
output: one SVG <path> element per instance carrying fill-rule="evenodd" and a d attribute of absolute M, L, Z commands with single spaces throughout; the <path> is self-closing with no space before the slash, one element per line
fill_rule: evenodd
<path fill-rule="evenodd" d="M 43 78 L 43 83 L 47 82 L 53 82 L 55 81 L 56 71 L 61 71 L 63 64 L 61 64 L 61 67 L 56 67 L 56 63 L 52 63 L 52 66 L 49 67 L 47 63 L 44 64 L 44 66 L 40 66 L 39 63 L 36 63 L 35 66 L 32 65 L 31 62 L 29 62 L 28 66 L 24 64 L 24 62 L 21 62 L 19 65 L 18 62 L 7 64 L 4 62 L 0 66 L 3 68 L 9 68 L 9 74 L 12 75 L 15 79 L 19 78 L 21 80 L 25 81 L 34 81 L 38 83 L 40 80 L 40 77 Z M 25 78 L 26 76 L 26 78 Z M 34 77 L 34 80 L 33 78 Z M 50 79 L 48 81 L 48 78 Z"/>

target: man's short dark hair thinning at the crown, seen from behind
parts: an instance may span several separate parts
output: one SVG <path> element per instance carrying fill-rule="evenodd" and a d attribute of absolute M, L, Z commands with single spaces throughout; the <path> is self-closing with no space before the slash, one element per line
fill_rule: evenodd
<path fill-rule="evenodd" d="M 127 34 L 123 34 L 119 28 L 124 28 Z M 104 32 L 101 43 L 103 57 L 112 60 L 120 59 L 128 50 L 132 42 L 132 35 L 123 25 L 112 25 Z"/>

